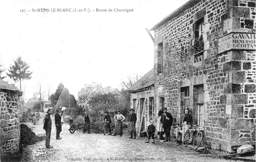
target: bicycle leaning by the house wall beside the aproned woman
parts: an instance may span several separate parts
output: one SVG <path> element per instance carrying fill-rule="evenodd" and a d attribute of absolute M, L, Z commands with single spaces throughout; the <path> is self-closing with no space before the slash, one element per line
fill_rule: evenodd
<path fill-rule="evenodd" d="M 193 129 L 189 129 L 184 134 L 184 139 L 182 141 L 182 145 L 186 147 L 188 144 L 190 144 L 193 141 L 193 147 L 195 150 L 200 146 L 202 139 L 203 139 L 203 133 L 201 131 L 204 130 L 204 127 L 200 125 L 193 125 Z M 194 136 L 193 133 L 197 132 Z"/>

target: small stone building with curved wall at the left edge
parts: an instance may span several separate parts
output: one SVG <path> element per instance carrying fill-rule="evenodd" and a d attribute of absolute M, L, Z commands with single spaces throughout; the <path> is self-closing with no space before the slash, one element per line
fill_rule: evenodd
<path fill-rule="evenodd" d="M 0 79 L 0 157 L 19 153 L 19 97 L 22 91 Z"/>

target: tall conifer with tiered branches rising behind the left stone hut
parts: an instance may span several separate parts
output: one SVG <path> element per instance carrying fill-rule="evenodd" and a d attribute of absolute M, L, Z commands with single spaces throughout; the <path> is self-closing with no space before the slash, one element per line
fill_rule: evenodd
<path fill-rule="evenodd" d="M 16 61 L 14 61 L 14 65 L 10 67 L 10 74 L 7 75 L 12 78 L 15 82 L 19 80 L 19 88 L 21 90 L 21 80 L 24 79 L 31 79 L 32 72 L 28 71 L 29 65 L 22 61 L 21 57 L 19 56 Z"/>

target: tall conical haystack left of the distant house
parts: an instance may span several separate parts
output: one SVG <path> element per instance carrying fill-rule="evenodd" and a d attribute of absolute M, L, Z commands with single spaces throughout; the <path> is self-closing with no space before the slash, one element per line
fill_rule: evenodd
<path fill-rule="evenodd" d="M 66 88 L 64 88 L 59 96 L 59 99 L 56 104 L 56 108 L 69 107 L 69 103 L 70 103 L 70 108 L 75 106 L 75 102 L 73 98 L 70 96 L 69 91 Z"/>

